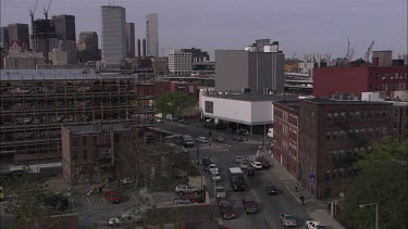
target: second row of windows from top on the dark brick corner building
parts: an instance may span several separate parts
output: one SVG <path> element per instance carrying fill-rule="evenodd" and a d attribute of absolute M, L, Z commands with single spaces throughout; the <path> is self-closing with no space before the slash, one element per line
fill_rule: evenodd
<path fill-rule="evenodd" d="M 362 135 L 362 136 L 367 135 L 369 137 L 385 136 L 387 135 L 387 128 L 386 127 L 359 128 L 359 129 L 349 129 L 347 132 L 346 130 L 326 131 L 326 139 L 327 140 L 346 139 L 346 138 L 350 138 L 353 135 Z"/>

